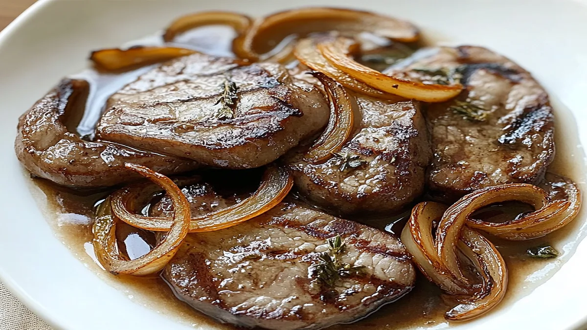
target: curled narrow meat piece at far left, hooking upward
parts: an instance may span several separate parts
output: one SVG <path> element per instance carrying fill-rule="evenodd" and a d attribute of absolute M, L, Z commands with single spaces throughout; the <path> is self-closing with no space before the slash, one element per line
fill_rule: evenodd
<path fill-rule="evenodd" d="M 164 174 L 197 167 L 191 160 L 108 142 L 87 142 L 68 132 L 65 122 L 83 111 L 88 90 L 85 80 L 65 79 L 21 116 L 16 156 L 33 175 L 64 186 L 103 187 L 140 177 L 124 168 L 126 162 Z"/>

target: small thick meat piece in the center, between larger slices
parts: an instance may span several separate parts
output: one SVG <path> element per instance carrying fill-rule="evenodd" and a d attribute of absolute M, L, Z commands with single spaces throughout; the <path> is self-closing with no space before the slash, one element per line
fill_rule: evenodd
<path fill-rule="evenodd" d="M 304 150 L 289 160 L 296 187 L 333 213 L 400 210 L 422 193 L 430 160 L 420 103 L 356 99 L 360 123 L 340 153 L 322 164 L 303 161 Z"/>

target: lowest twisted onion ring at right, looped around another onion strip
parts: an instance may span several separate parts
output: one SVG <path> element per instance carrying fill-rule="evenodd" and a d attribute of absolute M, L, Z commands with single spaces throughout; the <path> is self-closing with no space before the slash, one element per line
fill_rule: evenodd
<path fill-rule="evenodd" d="M 443 218 L 446 206 L 423 202 L 413 208 L 410 220 L 402 231 L 402 243 L 413 256 L 420 270 L 448 294 L 458 295 L 460 303 L 445 314 L 451 321 L 475 318 L 494 308 L 505 295 L 507 268 L 505 261 L 490 241 L 476 231 L 453 224 L 451 231 L 460 233 L 456 241 L 444 242 L 461 252 L 473 262 L 481 275 L 483 284 L 478 289 L 461 274 L 460 264 L 447 264 L 438 254 L 438 245 L 433 239 L 432 223 Z M 446 214 L 446 213 L 445 213 Z M 436 237 L 438 238 L 438 236 Z"/>

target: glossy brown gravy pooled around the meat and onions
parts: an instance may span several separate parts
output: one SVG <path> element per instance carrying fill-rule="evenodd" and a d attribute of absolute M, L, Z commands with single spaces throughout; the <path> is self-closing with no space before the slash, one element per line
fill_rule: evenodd
<path fill-rule="evenodd" d="M 203 50 L 215 55 L 230 55 L 230 42 L 222 43 L 219 40 L 230 40 L 232 31 L 227 28 L 208 27 L 190 32 L 187 36 L 181 36 L 192 44 L 200 45 L 195 49 Z M 160 43 L 159 38 L 146 38 L 129 45 L 154 45 Z M 186 41 L 180 39 L 180 41 Z M 77 133 L 86 139 L 93 139 L 93 130 L 103 110 L 103 105 L 113 92 L 120 89 L 145 68 L 124 75 L 103 75 L 93 70 L 76 75 L 76 78 L 89 80 L 92 84 L 86 112 L 77 124 Z M 561 174 L 575 180 L 585 188 L 584 154 L 578 145 L 576 123 L 568 109 L 561 103 L 552 100 L 556 115 L 556 146 L 557 155 L 550 171 Z M 564 129 L 563 129 L 564 127 Z M 50 183 L 42 179 L 31 179 L 32 189 L 40 188 L 46 196 L 46 201 L 39 201 L 39 205 L 48 205 L 45 210 L 48 214 L 48 222 L 55 230 L 55 236 L 65 244 L 80 261 L 84 262 L 92 270 L 107 281 L 113 287 L 120 289 L 129 299 L 149 309 L 165 314 L 178 322 L 203 326 L 209 325 L 215 329 L 234 329 L 231 325 L 220 324 L 195 311 L 176 297 L 166 282 L 158 276 L 133 277 L 128 275 L 114 276 L 104 271 L 96 261 L 92 247 L 92 222 L 95 204 L 102 200 L 110 191 L 83 193 L 70 190 Z M 519 204 L 511 204 L 500 208 L 494 208 L 486 215 L 496 213 L 510 214 L 513 218 L 521 211 L 527 211 L 527 207 Z M 381 230 L 399 233 L 406 221 L 407 213 L 396 217 L 378 218 L 370 220 L 369 224 Z M 576 244 L 585 237 L 585 213 L 582 211 L 575 221 L 561 230 L 530 241 L 511 242 L 503 240 L 491 241 L 497 245 L 507 262 L 509 270 L 509 285 L 505 301 L 495 311 L 508 308 L 508 305 L 524 295 L 529 294 L 534 288 L 548 280 L 566 260 L 573 254 Z M 131 258 L 137 258 L 149 251 L 153 244 L 153 234 L 128 225 L 119 226 L 117 232 L 120 247 L 126 250 Z M 551 244 L 559 252 L 558 258 L 551 260 L 537 260 L 528 257 L 526 251 L 529 247 L 541 244 Z M 356 321 L 352 327 L 356 329 L 443 329 L 448 328 L 443 314 L 450 305 L 445 304 L 441 298 L 441 291 L 435 285 L 430 284 L 423 276 L 419 275 L 416 286 L 409 294 L 399 301 L 388 304 L 367 318 Z M 492 311 L 492 312 L 495 312 Z M 348 325 L 335 325 L 329 329 L 343 329 Z"/>

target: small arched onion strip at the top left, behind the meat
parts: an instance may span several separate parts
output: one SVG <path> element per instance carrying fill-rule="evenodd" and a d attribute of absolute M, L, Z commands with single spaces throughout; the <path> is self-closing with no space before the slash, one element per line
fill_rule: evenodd
<path fill-rule="evenodd" d="M 171 23 L 163 34 L 163 40 L 171 42 L 181 33 L 205 25 L 228 25 L 237 32 L 237 39 L 244 38 L 252 24 L 249 16 L 235 12 L 210 11 L 181 16 Z M 238 42 L 238 43 L 242 43 Z"/>

